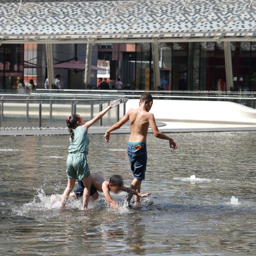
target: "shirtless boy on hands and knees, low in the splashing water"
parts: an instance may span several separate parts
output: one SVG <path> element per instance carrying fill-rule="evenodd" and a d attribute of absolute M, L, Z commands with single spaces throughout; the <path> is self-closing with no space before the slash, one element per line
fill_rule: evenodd
<path fill-rule="evenodd" d="M 109 182 L 108 180 L 103 177 L 102 175 L 91 173 L 91 180 L 92 180 L 92 186 L 90 189 L 90 200 L 96 200 L 99 196 L 97 191 L 103 192 L 106 200 L 111 205 L 113 209 L 116 209 L 116 202 L 113 201 L 113 198 L 110 195 L 110 191 L 114 193 L 118 193 L 120 191 L 125 191 L 128 193 L 128 196 L 137 195 L 138 197 L 147 197 L 151 193 L 145 193 L 140 194 L 139 192 L 127 188 L 124 186 L 124 182 L 121 175 L 113 175 L 111 176 Z M 79 183 L 79 188 L 76 190 L 73 190 L 73 192 L 70 193 L 71 197 L 78 198 L 83 195 L 84 192 L 84 186 L 83 183 Z"/>

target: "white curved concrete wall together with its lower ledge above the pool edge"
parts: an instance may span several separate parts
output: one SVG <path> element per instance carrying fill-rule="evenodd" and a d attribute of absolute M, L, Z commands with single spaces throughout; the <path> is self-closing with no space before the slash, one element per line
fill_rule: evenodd
<path fill-rule="evenodd" d="M 126 111 L 138 106 L 139 99 L 130 99 Z M 234 102 L 158 99 L 150 112 L 166 123 L 159 130 L 256 128 L 256 110 Z"/>

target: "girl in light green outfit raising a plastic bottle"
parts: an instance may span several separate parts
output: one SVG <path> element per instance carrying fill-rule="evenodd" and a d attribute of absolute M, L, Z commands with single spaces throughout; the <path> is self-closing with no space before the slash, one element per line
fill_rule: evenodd
<path fill-rule="evenodd" d="M 87 209 L 91 187 L 90 169 L 86 158 L 89 149 L 89 137 L 87 136 L 87 131 L 91 125 L 101 119 L 110 109 L 111 105 L 86 123 L 84 123 L 83 117 L 78 114 L 73 114 L 66 118 L 67 127 L 70 132 L 70 146 L 68 148 L 69 154 L 67 156 L 67 188 L 63 193 L 61 209 L 65 207 L 77 178 L 84 184 L 83 209 Z"/>

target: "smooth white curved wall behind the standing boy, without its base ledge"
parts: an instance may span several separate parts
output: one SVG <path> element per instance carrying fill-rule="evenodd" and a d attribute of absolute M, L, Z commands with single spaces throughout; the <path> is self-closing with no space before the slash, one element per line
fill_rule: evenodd
<path fill-rule="evenodd" d="M 126 103 L 126 111 L 137 107 L 139 99 Z M 150 112 L 157 121 L 256 125 L 256 110 L 234 102 L 156 99 Z"/>

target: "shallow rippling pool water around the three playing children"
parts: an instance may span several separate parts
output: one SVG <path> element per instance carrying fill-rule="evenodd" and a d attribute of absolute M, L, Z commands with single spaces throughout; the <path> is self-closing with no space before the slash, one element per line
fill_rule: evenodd
<path fill-rule="evenodd" d="M 1 137 L 0 247 L 3 255 L 255 255 L 256 132 L 148 135 L 140 207 L 110 209 L 102 195 L 63 211 L 68 136 Z M 128 134 L 90 135 L 91 172 L 132 180 Z M 195 175 L 195 176 L 193 176 Z M 151 204 L 151 203 L 154 204 Z"/>

